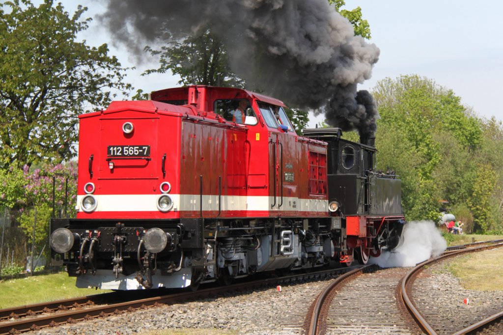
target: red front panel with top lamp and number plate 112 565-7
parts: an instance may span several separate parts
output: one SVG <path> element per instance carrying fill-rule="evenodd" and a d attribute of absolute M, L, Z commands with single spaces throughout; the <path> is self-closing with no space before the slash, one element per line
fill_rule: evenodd
<path fill-rule="evenodd" d="M 157 133 L 158 118 L 102 118 L 99 177 L 155 178 L 158 165 L 155 164 Z"/>

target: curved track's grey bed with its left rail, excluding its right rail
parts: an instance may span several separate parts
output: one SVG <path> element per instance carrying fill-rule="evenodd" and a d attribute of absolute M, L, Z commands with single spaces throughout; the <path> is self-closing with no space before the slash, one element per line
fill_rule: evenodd
<path fill-rule="evenodd" d="M 410 333 L 395 291 L 409 268 L 365 266 L 332 281 L 304 321 L 306 334 Z"/>

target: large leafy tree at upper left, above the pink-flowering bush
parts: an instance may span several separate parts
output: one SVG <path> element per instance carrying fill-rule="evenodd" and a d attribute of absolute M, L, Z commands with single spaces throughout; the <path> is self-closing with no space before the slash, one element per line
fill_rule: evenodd
<path fill-rule="evenodd" d="M 69 16 L 52 0 L 0 4 L 0 167 L 71 158 L 77 116 L 131 88 L 106 44 L 75 41 L 91 20 L 79 21 L 86 10 Z"/>

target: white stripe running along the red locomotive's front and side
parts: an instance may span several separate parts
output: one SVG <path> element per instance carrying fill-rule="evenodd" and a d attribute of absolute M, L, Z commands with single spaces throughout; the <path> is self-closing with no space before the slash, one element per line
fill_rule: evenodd
<path fill-rule="evenodd" d="M 86 195 L 77 196 L 78 212 L 81 212 L 80 203 Z M 95 212 L 152 212 L 158 211 L 157 199 L 160 194 L 111 194 L 94 195 L 98 206 Z M 173 201 L 171 211 L 199 211 L 201 210 L 199 195 L 169 194 Z M 299 212 L 328 212 L 328 200 L 326 199 L 299 199 L 296 197 L 269 196 L 221 196 L 221 211 L 299 211 Z M 218 211 L 218 195 L 203 195 L 203 211 Z"/>

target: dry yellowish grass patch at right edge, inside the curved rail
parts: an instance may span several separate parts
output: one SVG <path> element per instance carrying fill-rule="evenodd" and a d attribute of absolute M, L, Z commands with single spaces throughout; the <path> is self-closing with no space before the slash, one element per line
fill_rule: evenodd
<path fill-rule="evenodd" d="M 457 257 L 447 270 L 458 277 L 467 290 L 503 291 L 502 248 Z"/>

